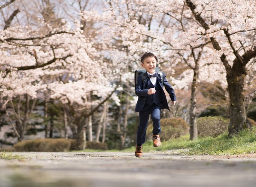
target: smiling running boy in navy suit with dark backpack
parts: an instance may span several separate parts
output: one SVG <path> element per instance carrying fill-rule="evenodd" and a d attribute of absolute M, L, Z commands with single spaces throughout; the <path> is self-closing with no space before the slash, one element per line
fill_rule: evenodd
<path fill-rule="evenodd" d="M 161 132 L 161 108 L 170 110 L 163 87 L 165 87 L 170 95 L 172 104 L 176 104 L 174 89 L 166 80 L 165 75 L 163 76 L 164 81 L 162 83 L 160 74 L 155 71 L 156 63 L 158 62 L 156 55 L 146 51 L 140 58 L 140 61 L 142 67 L 146 69 L 147 77 L 144 83 L 142 83 L 142 76 L 139 75 L 135 89 L 135 93 L 138 96 L 135 112 L 139 112 L 140 119 L 136 138 L 136 157 L 142 157 L 142 144 L 146 141 L 146 130 L 150 114 L 153 122 L 153 146 L 158 147 L 161 145 L 159 137 Z"/>

